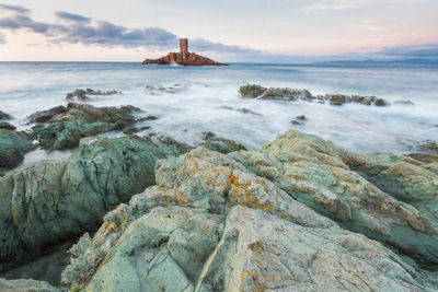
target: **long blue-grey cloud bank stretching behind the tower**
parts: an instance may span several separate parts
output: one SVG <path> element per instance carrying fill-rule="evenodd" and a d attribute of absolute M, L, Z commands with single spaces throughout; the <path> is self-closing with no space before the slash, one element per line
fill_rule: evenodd
<path fill-rule="evenodd" d="M 160 27 L 129 28 L 107 21 L 92 20 L 80 14 L 65 11 L 56 12 L 56 16 L 67 21 L 65 25 L 37 22 L 24 12 L 27 9 L 14 10 L 15 15 L 0 17 L 0 28 L 19 31 L 30 30 L 47 37 L 47 42 L 56 45 L 83 44 L 103 47 L 154 48 L 166 49 L 177 46 L 177 36 Z M 191 48 L 196 51 L 216 51 L 221 54 L 258 54 L 260 51 L 240 46 L 228 46 L 204 38 L 191 40 Z"/>

